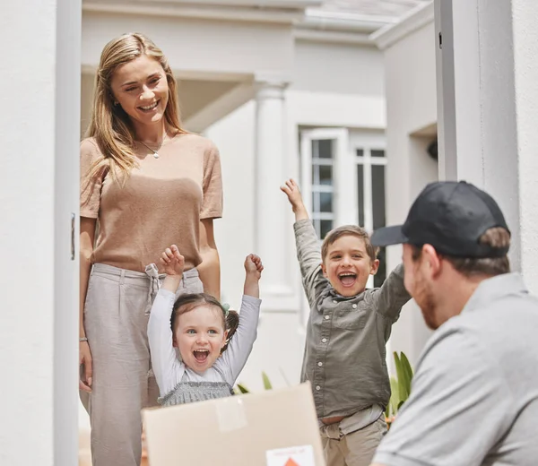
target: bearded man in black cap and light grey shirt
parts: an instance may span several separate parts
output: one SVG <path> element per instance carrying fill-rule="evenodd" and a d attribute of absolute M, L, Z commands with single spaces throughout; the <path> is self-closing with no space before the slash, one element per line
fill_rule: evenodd
<path fill-rule="evenodd" d="M 374 466 L 538 464 L 538 299 L 510 273 L 497 203 L 433 183 L 372 244 L 404 245 L 405 287 L 436 331 Z"/>

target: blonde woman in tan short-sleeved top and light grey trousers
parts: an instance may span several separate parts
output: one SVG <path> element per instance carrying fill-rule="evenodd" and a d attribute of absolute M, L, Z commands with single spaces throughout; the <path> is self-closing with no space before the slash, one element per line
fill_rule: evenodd
<path fill-rule="evenodd" d="M 146 329 L 161 271 L 150 264 L 177 244 L 187 270 L 180 291 L 219 298 L 213 219 L 222 211 L 221 165 L 213 143 L 181 128 L 177 83 L 141 34 L 103 49 L 88 136 L 81 144 L 81 398 L 93 465 L 135 466 L 141 409 L 158 396 Z"/>

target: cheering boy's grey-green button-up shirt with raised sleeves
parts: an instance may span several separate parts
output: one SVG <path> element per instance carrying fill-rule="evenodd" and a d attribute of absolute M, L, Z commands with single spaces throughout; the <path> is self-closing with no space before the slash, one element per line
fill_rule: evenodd
<path fill-rule="evenodd" d="M 386 407 L 390 383 L 386 341 L 411 298 L 398 266 L 379 289 L 343 298 L 321 271 L 321 251 L 310 220 L 293 226 L 303 286 L 310 305 L 301 381 L 312 384 L 317 417 L 350 416 Z"/>

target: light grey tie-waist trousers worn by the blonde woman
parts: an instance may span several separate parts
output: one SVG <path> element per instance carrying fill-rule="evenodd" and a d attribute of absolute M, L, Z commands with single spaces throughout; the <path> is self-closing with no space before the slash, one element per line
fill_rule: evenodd
<path fill-rule="evenodd" d="M 91 269 L 84 329 L 92 358 L 91 393 L 81 391 L 90 415 L 93 466 L 139 466 L 141 410 L 157 404 L 147 325 L 163 276 L 96 263 Z M 203 291 L 195 269 L 183 274 L 178 295 Z"/>

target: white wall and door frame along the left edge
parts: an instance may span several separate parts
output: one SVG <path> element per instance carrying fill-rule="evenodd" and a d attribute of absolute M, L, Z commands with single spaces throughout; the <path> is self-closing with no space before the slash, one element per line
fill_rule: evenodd
<path fill-rule="evenodd" d="M 81 0 L 2 5 L 0 462 L 10 466 L 77 463 L 80 36 Z"/>

